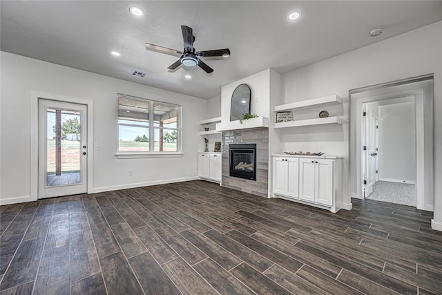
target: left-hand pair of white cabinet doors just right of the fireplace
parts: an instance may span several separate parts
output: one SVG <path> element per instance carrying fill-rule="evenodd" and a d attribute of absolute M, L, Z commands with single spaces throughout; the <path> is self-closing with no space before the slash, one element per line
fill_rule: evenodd
<path fill-rule="evenodd" d="M 299 196 L 299 159 L 273 158 L 273 191 L 291 198 Z"/>

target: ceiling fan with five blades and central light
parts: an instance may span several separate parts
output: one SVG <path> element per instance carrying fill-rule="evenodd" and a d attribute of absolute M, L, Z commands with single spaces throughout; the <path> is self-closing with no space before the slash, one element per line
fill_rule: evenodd
<path fill-rule="evenodd" d="M 168 67 L 169 70 L 175 70 L 180 65 L 189 67 L 199 66 L 200 68 L 205 70 L 206 73 L 209 74 L 213 72 L 213 68 L 207 66 L 200 59 L 201 57 L 228 57 L 230 55 L 229 48 L 195 52 L 195 48 L 193 48 L 195 37 L 193 36 L 192 28 L 189 28 L 188 26 L 181 26 L 181 30 L 182 38 L 184 39 L 184 52 L 155 44 L 146 43 L 147 50 L 160 51 L 162 53 L 169 53 L 171 55 L 181 55 L 180 59 L 178 59 L 173 64 L 171 64 L 171 66 Z"/>

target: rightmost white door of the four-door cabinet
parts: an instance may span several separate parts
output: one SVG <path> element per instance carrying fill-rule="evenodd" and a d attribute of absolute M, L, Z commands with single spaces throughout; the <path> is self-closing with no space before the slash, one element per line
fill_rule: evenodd
<path fill-rule="evenodd" d="M 315 202 L 332 206 L 333 202 L 333 161 L 317 160 L 315 171 Z"/>

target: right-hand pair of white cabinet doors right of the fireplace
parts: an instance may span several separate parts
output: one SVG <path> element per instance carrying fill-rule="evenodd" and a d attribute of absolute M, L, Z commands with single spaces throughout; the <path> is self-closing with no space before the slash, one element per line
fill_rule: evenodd
<path fill-rule="evenodd" d="M 334 160 L 307 158 L 299 162 L 300 200 L 332 206 Z"/>

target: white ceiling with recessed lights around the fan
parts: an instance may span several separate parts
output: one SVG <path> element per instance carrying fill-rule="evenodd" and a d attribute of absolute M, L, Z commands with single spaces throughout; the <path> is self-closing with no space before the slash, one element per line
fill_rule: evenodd
<path fill-rule="evenodd" d="M 131 15 L 132 5 L 144 16 Z M 1 0 L 0 9 L 3 51 L 206 99 L 260 70 L 286 73 L 442 19 L 442 1 Z M 289 22 L 294 10 L 302 17 Z M 183 50 L 181 25 L 193 28 L 196 50 L 230 48 L 231 57 L 203 59 L 210 75 L 167 70 L 178 57 L 144 44 Z M 385 31 L 370 37 L 375 26 Z"/>

